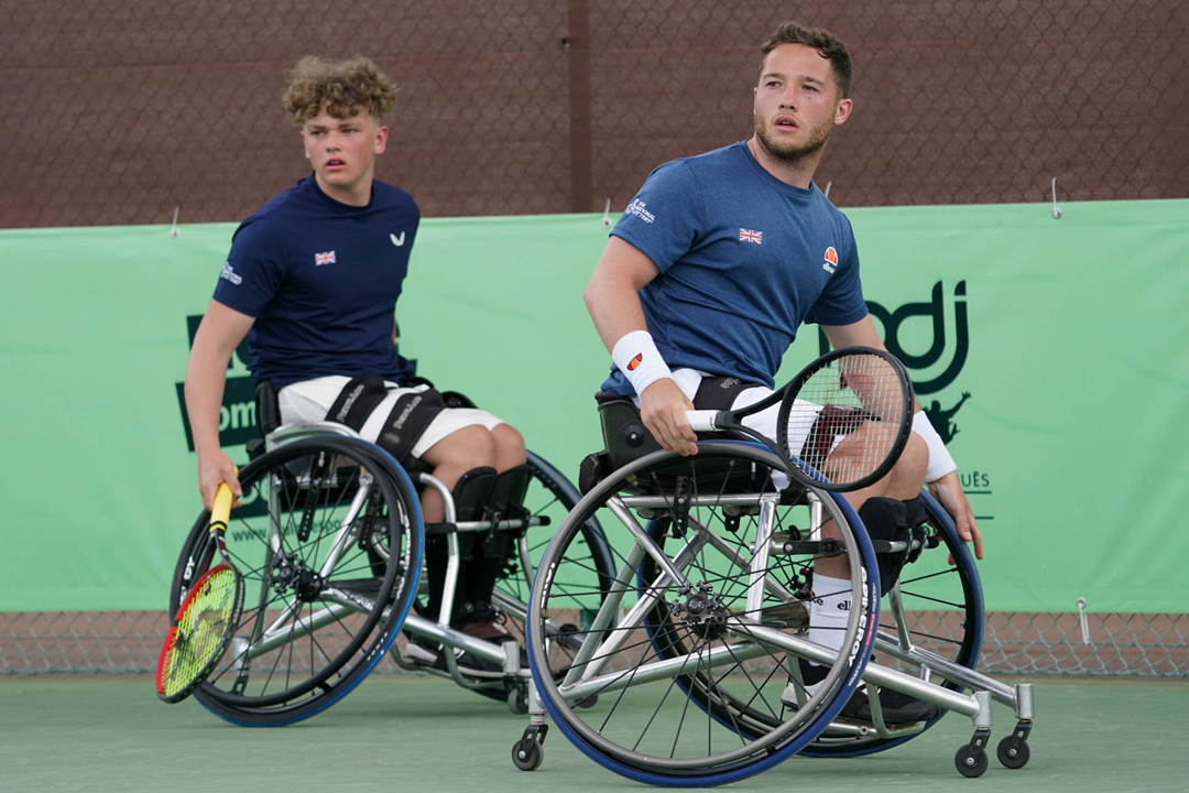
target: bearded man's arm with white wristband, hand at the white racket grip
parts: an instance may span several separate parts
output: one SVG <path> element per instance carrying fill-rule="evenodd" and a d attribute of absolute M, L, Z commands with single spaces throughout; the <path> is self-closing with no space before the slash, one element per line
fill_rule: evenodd
<path fill-rule="evenodd" d="M 648 325 L 640 306 L 640 290 L 658 275 L 660 270 L 648 256 L 612 235 L 583 297 L 603 345 L 640 394 L 640 417 L 644 426 L 671 452 L 696 454 L 697 435 L 685 417 L 693 404 L 673 382 L 650 336 L 641 335 L 648 333 Z M 629 372 L 637 348 L 641 366 Z"/>

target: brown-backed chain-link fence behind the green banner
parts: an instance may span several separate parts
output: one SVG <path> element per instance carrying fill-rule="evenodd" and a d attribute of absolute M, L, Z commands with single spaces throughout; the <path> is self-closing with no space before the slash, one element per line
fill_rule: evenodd
<path fill-rule="evenodd" d="M 622 209 L 750 133 L 789 13 L 850 45 L 839 206 L 1189 196 L 1182 0 L 0 0 L 0 227 L 232 221 L 306 174 L 281 109 L 309 54 L 401 84 L 378 176 L 427 215 Z M 151 669 L 163 612 L 0 613 L 0 673 Z M 1189 674 L 1189 617 L 996 613 L 996 672 Z"/>

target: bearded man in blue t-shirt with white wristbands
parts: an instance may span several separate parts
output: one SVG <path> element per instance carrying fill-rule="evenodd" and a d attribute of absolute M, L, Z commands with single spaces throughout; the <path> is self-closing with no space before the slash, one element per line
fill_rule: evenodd
<path fill-rule="evenodd" d="M 770 394 L 803 322 L 820 325 L 835 347 L 883 348 L 863 301 L 850 222 L 813 183 L 833 127 L 850 117 L 849 86 L 841 40 L 781 25 L 761 48 L 753 137 L 654 170 L 611 232 L 585 291 L 615 364 L 603 388 L 635 396 L 644 426 L 672 452 L 697 453 L 686 418 L 696 404 L 737 409 Z M 699 402 L 712 377 L 731 378 L 731 404 Z M 919 514 L 927 482 L 981 559 L 957 466 L 917 410 L 892 472 L 847 496 L 874 535 L 891 515 L 889 499 Z M 759 414 L 756 429 L 775 438 L 775 407 Z M 836 623 L 845 625 L 849 590 L 844 559 L 817 561 L 811 641 L 841 647 Z M 885 716 L 895 720 L 931 712 L 888 699 Z"/>

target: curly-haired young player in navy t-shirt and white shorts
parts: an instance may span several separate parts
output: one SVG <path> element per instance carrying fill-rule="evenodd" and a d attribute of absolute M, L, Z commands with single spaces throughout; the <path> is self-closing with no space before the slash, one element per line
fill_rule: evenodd
<path fill-rule="evenodd" d="M 421 214 L 407 193 L 373 178 L 388 143 L 380 119 L 395 102 L 395 83 L 366 58 L 304 58 L 294 69 L 284 106 L 314 172 L 235 231 L 185 371 L 199 490 L 208 508 L 224 482 L 243 495 L 219 447 L 219 409 L 231 354 L 249 334 L 249 369 L 277 391 L 283 423 L 345 423 L 402 462 L 421 460 L 447 487 L 476 468 L 505 472 L 526 461 L 516 429 L 484 410 L 446 407 L 397 353 L 396 302 Z M 427 489 L 424 520 L 441 521 L 443 510 Z M 433 546 L 427 541 L 426 609 L 436 617 L 446 562 Z M 473 552 L 452 624 L 479 638 L 510 638 L 490 605 L 502 564 Z"/>

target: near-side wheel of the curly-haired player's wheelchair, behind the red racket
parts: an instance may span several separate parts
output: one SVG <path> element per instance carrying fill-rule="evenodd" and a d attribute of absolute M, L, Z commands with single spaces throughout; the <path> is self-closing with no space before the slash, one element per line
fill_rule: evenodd
<path fill-rule="evenodd" d="M 391 457 L 351 438 L 294 441 L 239 479 L 226 541 L 244 610 L 195 697 L 237 724 L 289 724 L 333 705 L 383 657 L 416 593 L 421 511 Z M 203 512 L 178 560 L 171 610 L 219 560 L 207 521 Z"/>

